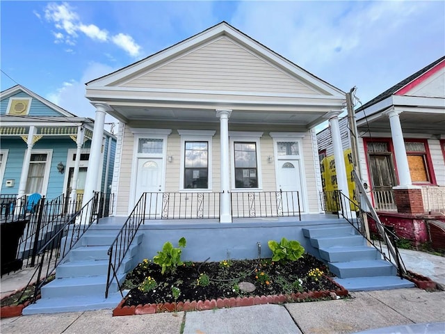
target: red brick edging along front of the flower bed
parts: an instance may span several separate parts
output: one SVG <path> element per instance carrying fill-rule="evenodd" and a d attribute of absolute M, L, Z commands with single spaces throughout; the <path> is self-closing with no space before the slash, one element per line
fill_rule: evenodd
<path fill-rule="evenodd" d="M 329 297 L 332 292 L 337 296 L 348 296 L 348 290 L 334 282 L 332 278 L 327 277 L 338 289 L 311 291 L 311 292 L 297 292 L 293 294 L 279 294 L 272 296 L 245 296 L 245 297 L 231 297 L 224 299 L 208 299 L 206 301 L 179 301 L 178 303 L 159 303 L 159 304 L 145 304 L 122 306 L 127 299 L 122 299 L 119 305 L 113 310 L 113 317 L 124 315 L 149 315 L 160 312 L 179 312 L 179 311 L 193 311 L 193 310 L 213 310 L 214 308 L 236 308 L 240 306 L 252 306 L 261 304 L 282 304 L 286 302 L 298 302 L 305 299 L 319 299 Z"/>

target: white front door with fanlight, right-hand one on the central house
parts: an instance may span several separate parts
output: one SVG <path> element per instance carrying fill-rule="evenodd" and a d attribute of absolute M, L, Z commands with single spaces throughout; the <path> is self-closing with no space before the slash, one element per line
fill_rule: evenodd
<path fill-rule="evenodd" d="M 303 211 L 300 160 L 278 160 L 278 190 L 282 191 L 284 216 L 298 212 L 298 202 Z"/>

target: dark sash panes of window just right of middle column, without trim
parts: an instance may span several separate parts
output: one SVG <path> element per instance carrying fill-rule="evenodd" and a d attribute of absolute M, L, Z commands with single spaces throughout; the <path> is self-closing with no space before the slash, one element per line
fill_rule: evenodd
<path fill-rule="evenodd" d="M 257 143 L 234 142 L 235 188 L 258 188 Z"/>

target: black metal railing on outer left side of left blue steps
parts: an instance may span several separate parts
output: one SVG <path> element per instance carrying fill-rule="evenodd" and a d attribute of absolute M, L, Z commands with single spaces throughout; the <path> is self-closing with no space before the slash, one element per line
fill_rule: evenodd
<path fill-rule="evenodd" d="M 33 303 L 35 303 L 35 300 L 37 299 L 40 288 L 56 271 L 56 267 L 65 260 L 66 255 L 72 248 L 74 248 L 77 241 L 81 239 L 92 223 L 99 219 L 97 214 L 95 214 L 98 200 L 99 192 L 95 192 L 94 196 L 86 203 L 86 205 L 83 205 L 78 212 L 74 213 L 63 227 L 60 228 L 60 230 L 58 230 L 42 247 L 40 247 L 40 250 L 37 253 L 37 268 L 26 285 L 26 287 L 29 287 L 33 278 L 37 275 Z M 63 238 L 65 238 L 65 241 L 63 241 Z M 44 269 L 44 264 L 46 265 L 46 269 Z M 43 275 L 42 271 L 44 271 Z M 24 289 L 24 292 L 25 291 L 26 288 Z M 20 296 L 20 298 L 22 298 L 22 296 Z"/>

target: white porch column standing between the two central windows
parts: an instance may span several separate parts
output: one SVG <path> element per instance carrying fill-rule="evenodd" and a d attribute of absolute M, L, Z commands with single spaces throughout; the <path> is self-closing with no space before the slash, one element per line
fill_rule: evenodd
<path fill-rule="evenodd" d="M 221 213 L 220 223 L 232 223 L 230 213 L 230 179 L 229 179 L 229 117 L 232 110 L 216 110 L 220 118 L 220 145 L 221 145 Z"/>

